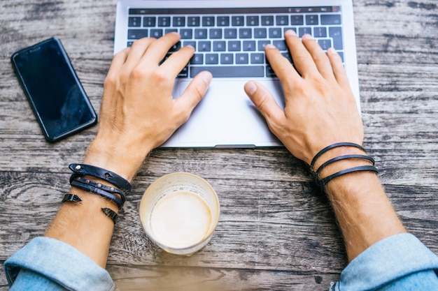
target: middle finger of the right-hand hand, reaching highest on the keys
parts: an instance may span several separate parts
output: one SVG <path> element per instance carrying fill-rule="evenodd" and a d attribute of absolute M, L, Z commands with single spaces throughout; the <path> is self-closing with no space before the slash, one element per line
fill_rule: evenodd
<path fill-rule="evenodd" d="M 316 64 L 313 61 L 311 54 L 306 47 L 304 47 L 302 41 L 297 36 L 297 33 L 290 29 L 285 31 L 284 35 L 293 63 L 298 72 L 303 77 L 318 72 L 318 68 L 316 68 Z"/>

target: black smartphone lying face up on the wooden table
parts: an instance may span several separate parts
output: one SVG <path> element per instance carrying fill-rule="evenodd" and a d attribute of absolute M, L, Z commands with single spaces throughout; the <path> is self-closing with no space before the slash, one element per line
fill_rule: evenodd
<path fill-rule="evenodd" d="M 97 123 L 97 115 L 58 38 L 10 58 L 45 139 L 57 142 Z"/>

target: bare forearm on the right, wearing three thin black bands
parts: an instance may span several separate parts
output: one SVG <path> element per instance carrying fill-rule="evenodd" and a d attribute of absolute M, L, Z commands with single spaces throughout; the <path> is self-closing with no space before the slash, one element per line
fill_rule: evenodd
<path fill-rule="evenodd" d="M 346 154 L 364 153 L 353 147 L 332 149 L 318 164 Z M 367 164 L 362 159 L 338 161 L 327 166 L 320 176 Z M 374 172 L 352 172 L 337 177 L 325 186 L 325 192 L 344 235 L 349 261 L 377 241 L 406 232 Z"/>

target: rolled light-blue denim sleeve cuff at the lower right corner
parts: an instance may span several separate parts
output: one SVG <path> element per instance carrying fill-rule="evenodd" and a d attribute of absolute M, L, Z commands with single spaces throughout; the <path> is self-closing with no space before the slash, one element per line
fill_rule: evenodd
<path fill-rule="evenodd" d="M 352 260 L 330 290 L 438 290 L 437 276 L 437 255 L 414 235 L 396 234 Z"/>

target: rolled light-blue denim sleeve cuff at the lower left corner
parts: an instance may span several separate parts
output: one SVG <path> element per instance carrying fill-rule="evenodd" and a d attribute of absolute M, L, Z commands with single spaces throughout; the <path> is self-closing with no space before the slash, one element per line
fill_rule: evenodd
<path fill-rule="evenodd" d="M 29 288 L 22 285 L 20 290 L 50 290 L 54 283 L 61 290 L 115 290 L 104 268 L 73 246 L 48 237 L 32 239 L 6 260 L 4 267 L 9 285 L 13 285 L 15 279 L 17 285 L 28 284 Z M 21 269 L 26 271 L 18 276 Z M 40 286 L 34 285 L 36 283 Z"/>

